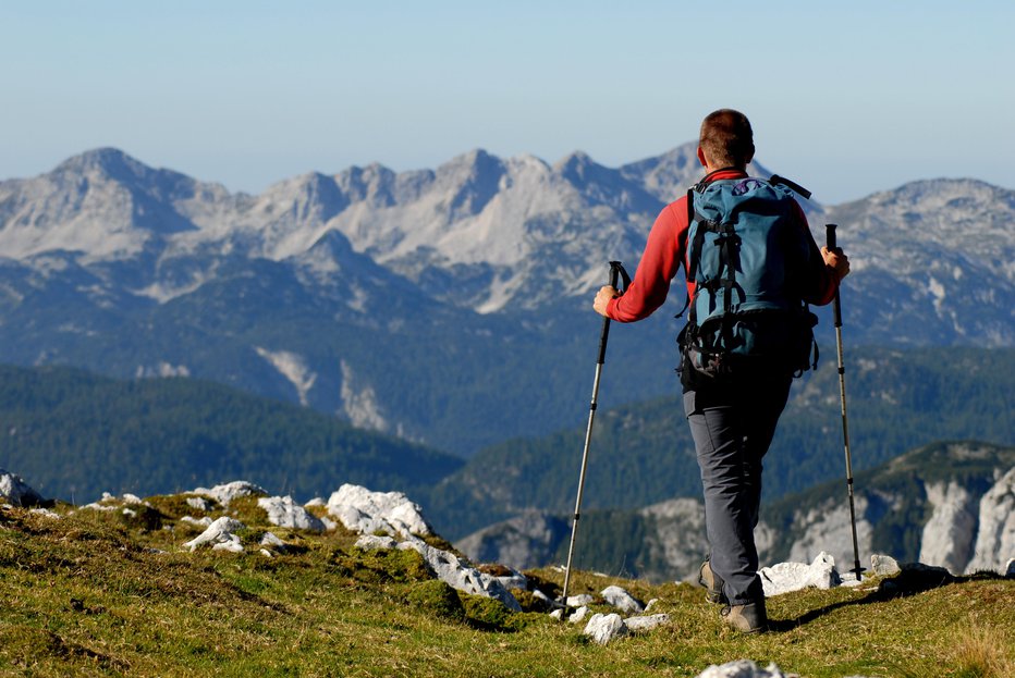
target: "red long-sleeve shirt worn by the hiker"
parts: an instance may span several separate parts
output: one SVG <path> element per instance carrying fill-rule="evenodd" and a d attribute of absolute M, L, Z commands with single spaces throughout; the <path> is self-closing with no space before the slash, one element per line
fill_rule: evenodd
<path fill-rule="evenodd" d="M 745 178 L 747 174 L 737 170 L 714 172 L 709 181 L 722 178 Z M 814 263 L 807 276 L 807 289 L 804 300 L 808 304 L 824 306 L 835 297 L 839 288 L 839 276 L 835 271 L 824 263 L 818 245 L 810 234 L 807 217 L 799 204 L 794 201 L 800 227 L 807 233 L 810 241 Z M 645 252 L 638 269 L 635 272 L 631 286 L 620 297 L 611 299 L 607 305 L 607 317 L 617 322 L 635 322 L 652 315 L 667 300 L 670 292 L 670 281 L 676 275 L 681 266 L 687 270 L 687 196 L 681 197 L 663 208 L 652 224 L 645 245 Z M 687 281 L 687 294 L 694 298 L 695 283 Z"/>

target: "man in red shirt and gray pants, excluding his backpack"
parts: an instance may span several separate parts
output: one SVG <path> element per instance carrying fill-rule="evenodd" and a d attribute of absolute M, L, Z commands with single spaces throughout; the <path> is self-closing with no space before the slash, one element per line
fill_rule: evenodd
<path fill-rule="evenodd" d="M 732 192 L 729 195 L 737 195 L 744 186 L 761 185 L 745 181 L 754 153 L 750 123 L 743 113 L 723 109 L 709 114 L 701 123 L 697 152 L 707 174 L 698 187 L 704 193 L 709 186 L 717 189 L 729 186 Z M 837 248 L 818 249 L 804 211 L 795 200 L 786 196 L 780 206 L 785 208 L 786 215 L 782 219 L 788 224 L 780 227 L 788 229 L 802 245 L 796 255 L 775 256 L 766 264 L 785 269 L 772 271 L 773 279 L 787 281 L 779 294 L 795 299 L 797 305 L 829 304 L 839 282 L 849 272 L 848 259 Z M 667 206 L 652 225 L 627 291 L 621 296 L 609 285 L 602 287 L 596 295 L 595 310 L 612 320 L 635 322 L 659 308 L 677 270 L 682 266 L 685 271 L 688 268 L 690 221 L 687 196 Z M 694 276 L 686 278 L 689 298 L 695 299 Z M 788 398 L 793 371 L 799 363 L 793 367 L 781 360 L 748 360 L 748 363 L 727 379 L 696 380 L 683 360 L 682 382 L 684 410 L 701 469 L 710 547 L 699 581 L 707 588 L 706 599 L 723 605 L 721 614 L 726 624 L 741 631 L 756 632 L 768 627 L 754 541 L 761 503 L 761 458 L 771 444 Z"/>

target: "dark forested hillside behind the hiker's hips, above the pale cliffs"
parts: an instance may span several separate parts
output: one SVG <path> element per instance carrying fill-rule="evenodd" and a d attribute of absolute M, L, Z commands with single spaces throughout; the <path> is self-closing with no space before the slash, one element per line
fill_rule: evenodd
<path fill-rule="evenodd" d="M 847 349 L 854 470 L 941 440 L 1015 443 L 1012 374 L 1015 349 Z M 582 427 L 480 452 L 424 497 L 428 515 L 460 539 L 523 508 L 572 510 L 584 436 Z M 834 353 L 827 349 L 817 372 L 795 383 L 765 464 L 768 501 L 843 477 Z M 680 397 L 600 411 L 589 453 L 587 508 L 636 508 L 700 492 Z"/>

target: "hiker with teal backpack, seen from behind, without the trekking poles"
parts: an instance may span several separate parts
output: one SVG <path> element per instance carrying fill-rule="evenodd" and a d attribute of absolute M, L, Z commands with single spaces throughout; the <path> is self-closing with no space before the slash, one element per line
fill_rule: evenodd
<path fill-rule="evenodd" d="M 624 294 L 603 286 L 592 305 L 598 313 L 619 322 L 643 320 L 663 304 L 677 269 L 685 269 L 689 322 L 681 335 L 678 372 L 701 469 L 710 551 L 699 581 L 707 589 L 706 599 L 723 605 L 724 621 L 745 632 L 768 627 L 754 528 L 761 502 L 761 458 L 786 405 L 794 372 L 807 369 L 809 362 L 811 328 L 817 319 L 799 309 L 806 309 L 805 304 L 829 304 L 849 272 L 842 250 L 818 249 L 804 210 L 787 189 L 775 185 L 774 178 L 766 182 L 747 176 L 754 153 L 750 123 L 743 113 L 729 109 L 710 113 L 701 123 L 697 152 L 705 178 L 660 212 Z M 723 200 L 729 205 L 744 195 L 755 197 L 742 204 L 743 211 L 723 213 Z M 688 198 L 693 199 L 690 213 Z M 741 255 L 746 247 L 756 246 L 767 248 L 766 263 L 759 271 L 763 274 L 748 281 L 737 279 L 727 287 L 723 287 L 726 273 L 722 271 L 708 272 L 716 280 L 702 278 L 706 259 L 720 256 L 711 252 L 723 249 L 713 245 L 722 245 L 729 233 L 716 229 L 718 236 L 712 237 L 718 239 L 713 242 L 698 232 L 707 222 L 710 227 L 722 222 L 741 227 L 751 225 L 753 220 L 778 229 L 783 249 L 772 251 L 775 246 L 770 241 L 759 239 L 760 245 L 756 245 L 748 242 L 750 235 L 737 235 L 739 250 L 733 255 L 736 266 L 731 264 L 731 269 L 748 261 L 746 254 Z M 692 231 L 696 237 L 688 245 Z M 697 284 L 696 278 L 700 281 Z M 758 288 L 749 289 L 751 285 Z M 756 293 L 753 298 L 767 299 L 757 305 L 761 312 L 733 312 L 732 303 L 742 300 L 738 293 L 745 287 Z M 717 307 L 726 312 L 717 312 Z M 776 310 L 763 312 L 770 309 Z M 710 312 L 717 320 L 710 320 Z M 812 320 L 802 322 L 807 317 Z M 713 329 L 706 331 L 709 325 Z M 760 357 L 750 355 L 750 346 L 766 344 Z M 774 353 L 773 346 L 779 348 Z M 800 355 L 802 347 L 806 355 Z M 737 352 L 739 355 L 734 355 Z"/>

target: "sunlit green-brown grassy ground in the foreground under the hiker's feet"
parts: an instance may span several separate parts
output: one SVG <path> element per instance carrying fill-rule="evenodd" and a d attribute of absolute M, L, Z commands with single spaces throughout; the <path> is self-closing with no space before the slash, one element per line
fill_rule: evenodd
<path fill-rule="evenodd" d="M 620 583 L 671 616 L 600 646 L 531 595 L 519 594 L 527 612 L 509 613 L 441 585 L 415 552 L 364 553 L 342 530 L 271 528 L 292 547 L 270 558 L 184 552 L 195 531 L 175 520 L 182 501 L 150 502 L 157 520 L 144 525 L 118 511 L 0 508 L 0 675 L 624 678 L 697 676 L 738 658 L 808 678 L 1015 675 L 1013 580 L 900 577 L 791 593 L 769 601 L 773 632 L 743 637 L 701 589 L 578 572 L 574 593 Z M 237 509 L 248 544 L 266 529 L 257 510 Z M 144 529 L 160 523 L 171 529 Z M 559 591 L 560 572 L 530 575 Z"/>

